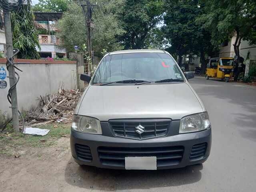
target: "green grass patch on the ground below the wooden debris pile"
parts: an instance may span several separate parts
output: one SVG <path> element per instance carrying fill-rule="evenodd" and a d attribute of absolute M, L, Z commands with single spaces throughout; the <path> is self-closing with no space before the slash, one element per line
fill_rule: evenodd
<path fill-rule="evenodd" d="M 0 134 L 0 154 L 8 154 L 10 150 L 17 147 L 47 147 L 56 144 L 56 140 L 63 135 L 70 134 L 71 124 L 53 123 L 44 126 L 36 126 L 41 129 L 49 129 L 45 136 L 29 135 L 15 132 L 4 132 Z"/>

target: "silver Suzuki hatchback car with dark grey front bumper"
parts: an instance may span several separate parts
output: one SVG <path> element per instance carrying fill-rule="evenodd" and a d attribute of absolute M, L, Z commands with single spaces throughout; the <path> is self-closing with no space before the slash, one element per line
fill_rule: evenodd
<path fill-rule="evenodd" d="M 102 58 L 74 111 L 70 145 L 80 165 L 156 170 L 206 161 L 211 125 L 204 104 L 162 50 Z"/>

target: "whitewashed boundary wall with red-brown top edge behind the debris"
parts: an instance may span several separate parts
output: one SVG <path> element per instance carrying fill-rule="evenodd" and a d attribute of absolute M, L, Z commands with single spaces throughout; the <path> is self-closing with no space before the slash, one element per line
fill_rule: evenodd
<path fill-rule="evenodd" d="M 15 62 L 29 62 L 30 64 L 18 64 L 17 67 L 23 72 L 18 72 L 20 80 L 17 84 L 18 108 L 19 110 L 30 110 L 38 106 L 38 97 L 58 92 L 62 83 L 64 89 L 77 89 L 77 62 L 76 61 L 44 61 L 16 59 Z M 6 81 L 7 87 L 0 88 L 0 110 L 8 112 L 10 103 L 7 100 L 9 86 L 6 59 L 0 58 L 0 81 Z M 2 69 L 2 68 L 1 68 Z M 6 78 L 4 73 L 6 72 Z M 2 76 L 1 76 L 2 75 Z M 3 83 L 3 82 L 2 82 Z M 5 83 L 5 82 L 4 82 Z"/>

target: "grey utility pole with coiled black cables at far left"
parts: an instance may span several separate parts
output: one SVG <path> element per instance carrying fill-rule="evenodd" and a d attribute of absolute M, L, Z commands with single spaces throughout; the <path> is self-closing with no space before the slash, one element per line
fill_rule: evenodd
<path fill-rule="evenodd" d="M 12 46 L 12 26 L 10 19 L 10 11 L 4 11 L 4 31 L 6 40 L 6 57 L 12 59 L 13 46 Z M 9 71 L 9 82 L 10 87 L 16 83 L 15 69 L 12 65 L 8 68 Z M 19 131 L 19 116 L 18 116 L 18 101 L 17 101 L 17 91 L 16 86 L 11 89 L 11 101 L 12 101 L 12 123 L 13 129 Z"/>

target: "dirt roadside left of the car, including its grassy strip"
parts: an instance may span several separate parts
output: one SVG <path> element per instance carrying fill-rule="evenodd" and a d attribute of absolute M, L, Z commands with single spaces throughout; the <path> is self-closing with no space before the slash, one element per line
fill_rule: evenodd
<path fill-rule="evenodd" d="M 24 136 L 11 130 L 0 134 L 0 192 L 115 190 L 114 176 L 108 170 L 74 162 L 70 126 L 53 123 L 39 127 L 50 129 L 45 136 Z"/>

